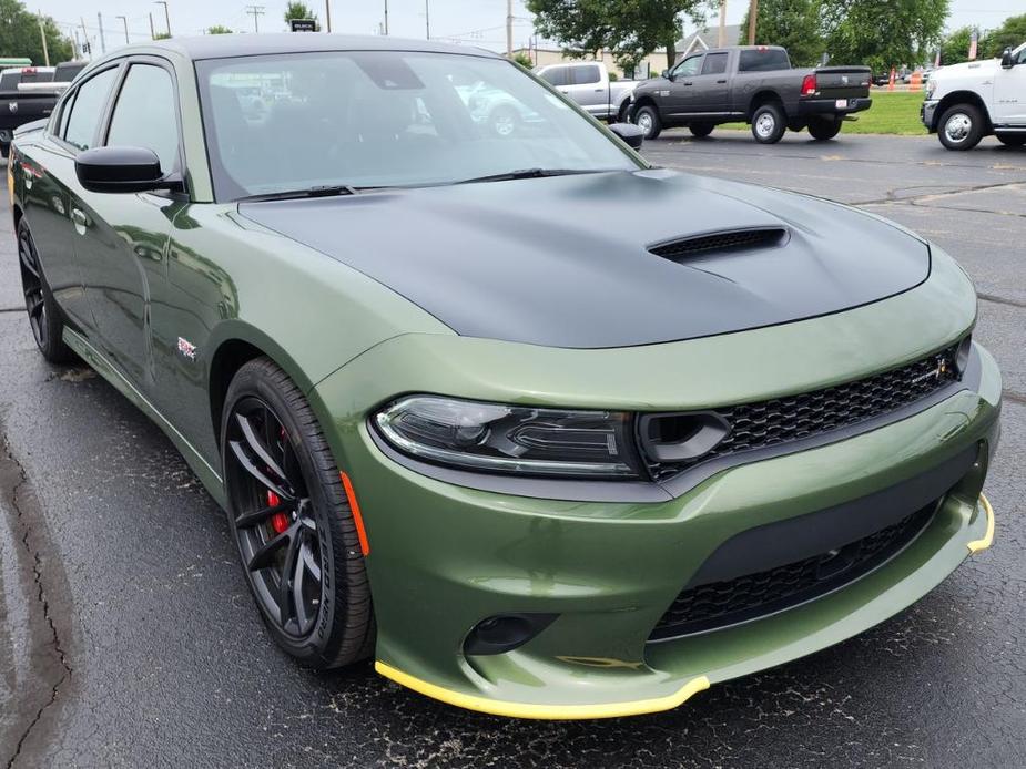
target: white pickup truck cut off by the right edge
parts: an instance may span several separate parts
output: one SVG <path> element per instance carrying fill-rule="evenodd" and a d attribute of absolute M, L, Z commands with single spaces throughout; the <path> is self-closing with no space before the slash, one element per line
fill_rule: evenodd
<path fill-rule="evenodd" d="M 948 150 L 972 150 L 989 134 L 1008 146 L 1026 145 L 1026 43 L 999 59 L 935 70 L 921 116 Z"/>

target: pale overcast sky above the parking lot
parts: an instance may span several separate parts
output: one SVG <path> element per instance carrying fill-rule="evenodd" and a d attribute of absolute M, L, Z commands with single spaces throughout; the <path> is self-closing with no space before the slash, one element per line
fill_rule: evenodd
<path fill-rule="evenodd" d="M 149 0 L 30 0 L 31 10 L 39 10 L 53 17 L 69 35 L 78 29 L 80 38 L 88 34 L 99 50 L 96 13 L 103 16 L 103 37 L 106 49 L 123 44 L 124 25 L 128 23 L 129 40 L 139 42 L 150 37 L 150 14 L 158 32 L 166 29 L 164 8 Z M 224 24 L 237 32 L 253 32 L 254 21 L 260 31 L 286 31 L 283 14 L 286 2 L 256 0 L 255 8 L 263 14 L 247 13 L 244 2 L 235 0 L 167 0 L 171 31 L 175 34 L 201 34 L 213 24 Z M 307 2 L 322 23 L 325 0 Z M 382 31 L 386 0 L 331 0 L 332 31 L 355 34 L 376 34 Z M 388 32 L 404 38 L 420 38 L 427 33 L 425 6 L 429 11 L 431 38 L 480 45 L 492 50 L 506 49 L 506 1 L 505 0 L 387 0 Z M 983 29 L 997 27 L 1008 16 L 1024 11 L 1024 0 L 952 0 L 948 29 L 977 24 Z M 89 8 L 83 17 L 82 13 Z M 739 23 L 748 9 L 745 0 L 728 0 L 728 23 Z M 125 17 L 122 21 L 119 16 Z M 709 23 L 717 23 L 715 11 L 710 12 Z M 84 22 L 85 32 L 82 31 Z M 690 32 L 693 25 L 688 25 Z M 514 45 L 524 47 L 530 39 L 530 14 L 522 0 L 514 2 Z"/>

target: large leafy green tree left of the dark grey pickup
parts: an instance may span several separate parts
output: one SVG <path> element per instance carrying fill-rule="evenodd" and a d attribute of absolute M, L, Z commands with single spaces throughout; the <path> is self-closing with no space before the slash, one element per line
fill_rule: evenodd
<path fill-rule="evenodd" d="M 568 54 L 608 50 L 631 71 L 658 48 L 667 49 L 672 66 L 682 18 L 700 18 L 705 0 L 527 0 L 526 6 L 535 29 L 558 40 Z"/>

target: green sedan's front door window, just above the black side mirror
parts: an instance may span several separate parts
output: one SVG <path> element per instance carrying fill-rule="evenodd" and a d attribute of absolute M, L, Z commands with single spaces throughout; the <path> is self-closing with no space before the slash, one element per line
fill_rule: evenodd
<path fill-rule="evenodd" d="M 179 120 L 174 82 L 167 70 L 154 64 L 132 64 L 118 94 L 108 146 L 148 147 L 161 158 L 161 171 L 179 163 Z"/>

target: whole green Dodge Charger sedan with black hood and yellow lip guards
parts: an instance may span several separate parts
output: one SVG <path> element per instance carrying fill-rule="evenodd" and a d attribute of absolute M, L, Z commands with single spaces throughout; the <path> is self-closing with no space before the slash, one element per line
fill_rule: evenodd
<path fill-rule="evenodd" d="M 1002 386 L 936 245 L 631 131 L 469 48 L 120 49 L 13 142 L 35 341 L 181 450 L 301 664 L 675 707 L 986 548 Z"/>

